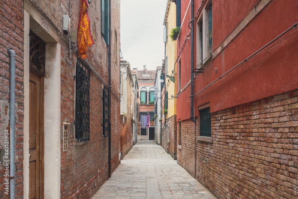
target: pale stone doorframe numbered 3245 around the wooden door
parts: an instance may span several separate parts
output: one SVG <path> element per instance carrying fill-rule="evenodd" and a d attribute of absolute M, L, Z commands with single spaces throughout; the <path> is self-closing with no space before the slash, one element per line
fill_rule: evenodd
<path fill-rule="evenodd" d="M 46 42 L 44 78 L 44 198 L 60 198 L 60 36 L 41 25 L 41 14 L 24 1 L 24 199 L 29 198 L 29 30 Z"/>

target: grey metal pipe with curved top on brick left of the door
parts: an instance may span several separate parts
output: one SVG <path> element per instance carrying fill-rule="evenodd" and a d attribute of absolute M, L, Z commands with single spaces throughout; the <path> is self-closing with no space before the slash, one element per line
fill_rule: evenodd
<path fill-rule="evenodd" d="M 10 199 L 15 198 L 15 51 L 10 56 Z"/>

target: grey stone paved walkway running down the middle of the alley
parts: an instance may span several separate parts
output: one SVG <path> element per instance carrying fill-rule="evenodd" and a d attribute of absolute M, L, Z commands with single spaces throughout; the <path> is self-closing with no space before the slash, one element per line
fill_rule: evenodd
<path fill-rule="evenodd" d="M 138 141 L 92 199 L 215 199 L 154 141 Z"/>

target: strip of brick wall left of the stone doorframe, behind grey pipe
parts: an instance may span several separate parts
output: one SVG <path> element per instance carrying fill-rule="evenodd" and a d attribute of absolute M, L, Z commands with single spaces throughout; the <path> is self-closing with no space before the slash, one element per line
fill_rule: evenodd
<path fill-rule="evenodd" d="M 0 2 L 0 198 L 9 198 L 4 194 L 3 166 L 4 136 L 9 121 L 10 105 L 10 57 L 7 48 L 15 51 L 15 198 L 23 195 L 23 126 L 24 126 L 24 2 L 1 0 Z"/>

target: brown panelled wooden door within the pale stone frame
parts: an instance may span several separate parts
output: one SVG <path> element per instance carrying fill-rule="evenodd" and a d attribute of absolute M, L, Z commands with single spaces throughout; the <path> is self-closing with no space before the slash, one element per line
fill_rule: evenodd
<path fill-rule="evenodd" d="M 29 77 L 29 199 L 43 198 L 43 77 Z"/>

